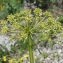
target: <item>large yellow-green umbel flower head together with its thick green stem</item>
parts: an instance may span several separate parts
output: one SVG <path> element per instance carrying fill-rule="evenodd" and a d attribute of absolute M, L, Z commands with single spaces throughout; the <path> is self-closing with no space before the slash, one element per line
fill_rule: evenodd
<path fill-rule="evenodd" d="M 30 63 L 34 63 L 34 47 L 32 46 L 37 45 L 35 40 L 37 39 L 37 43 L 45 42 L 44 46 L 46 46 L 56 34 L 62 31 L 61 23 L 57 22 L 51 13 L 42 12 L 39 8 L 36 8 L 33 13 L 31 9 L 27 9 L 14 15 L 8 15 L 7 20 L 0 22 L 0 26 L 1 34 L 8 35 L 11 39 L 17 39 L 17 42 L 27 43 Z"/>

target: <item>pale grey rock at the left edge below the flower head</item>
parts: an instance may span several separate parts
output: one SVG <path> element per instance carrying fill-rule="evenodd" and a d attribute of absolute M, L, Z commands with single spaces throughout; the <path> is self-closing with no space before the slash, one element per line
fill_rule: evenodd
<path fill-rule="evenodd" d="M 10 38 L 4 35 L 0 36 L 0 45 L 7 48 L 8 51 L 11 50 L 11 45 L 14 45 L 15 41 L 10 42 Z"/>

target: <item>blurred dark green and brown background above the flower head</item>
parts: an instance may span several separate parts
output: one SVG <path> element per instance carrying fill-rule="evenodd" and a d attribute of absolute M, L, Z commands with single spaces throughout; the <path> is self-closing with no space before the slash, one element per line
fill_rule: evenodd
<path fill-rule="evenodd" d="M 22 9 L 39 7 L 43 11 L 50 11 L 56 16 L 63 15 L 63 0 L 0 0 L 0 19 L 19 12 Z"/>

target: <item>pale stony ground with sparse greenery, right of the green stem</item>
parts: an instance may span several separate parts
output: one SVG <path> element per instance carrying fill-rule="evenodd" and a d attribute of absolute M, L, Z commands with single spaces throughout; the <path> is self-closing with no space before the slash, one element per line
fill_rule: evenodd
<path fill-rule="evenodd" d="M 54 39 L 55 44 L 52 48 L 38 45 L 39 51 L 37 49 L 34 51 L 36 53 L 35 63 L 63 63 L 63 37 L 60 36 L 62 33 Z"/>

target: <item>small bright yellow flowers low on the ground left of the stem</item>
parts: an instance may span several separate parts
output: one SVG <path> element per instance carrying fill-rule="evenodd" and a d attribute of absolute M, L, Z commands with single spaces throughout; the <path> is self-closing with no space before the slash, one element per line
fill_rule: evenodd
<path fill-rule="evenodd" d="M 23 57 L 20 57 L 20 58 L 8 58 L 6 56 L 3 56 L 3 61 L 4 62 L 8 61 L 9 63 L 19 63 L 19 62 L 23 63 L 23 61 L 27 61 L 28 58 L 29 58 L 28 54 L 26 54 L 26 55 L 24 55 Z"/>

